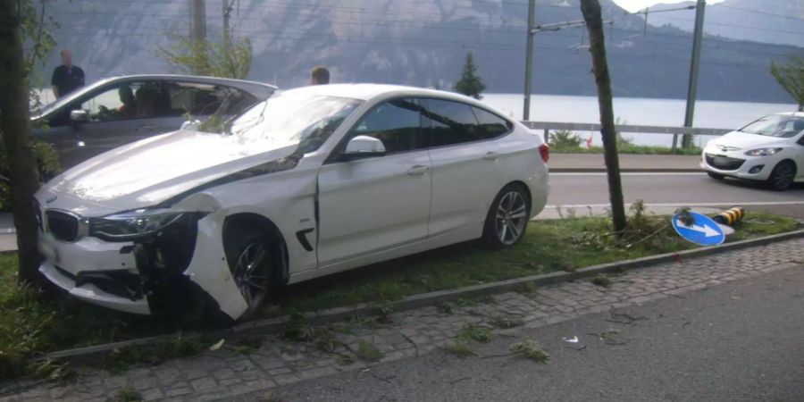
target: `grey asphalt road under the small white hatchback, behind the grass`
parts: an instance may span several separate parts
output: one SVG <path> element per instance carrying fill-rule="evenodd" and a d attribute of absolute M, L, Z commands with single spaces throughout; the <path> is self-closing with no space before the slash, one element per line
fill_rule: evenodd
<path fill-rule="evenodd" d="M 748 209 L 804 219 L 804 185 L 779 192 L 756 183 L 713 180 L 705 173 L 624 173 L 626 203 L 655 205 L 745 205 Z M 549 205 L 607 205 L 605 173 L 550 174 Z"/>

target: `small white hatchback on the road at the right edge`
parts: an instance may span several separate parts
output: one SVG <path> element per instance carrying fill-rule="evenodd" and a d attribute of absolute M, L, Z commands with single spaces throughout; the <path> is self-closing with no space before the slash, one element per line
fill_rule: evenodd
<path fill-rule="evenodd" d="M 717 180 L 762 180 L 780 191 L 804 181 L 804 113 L 771 114 L 710 140 L 700 167 Z"/>

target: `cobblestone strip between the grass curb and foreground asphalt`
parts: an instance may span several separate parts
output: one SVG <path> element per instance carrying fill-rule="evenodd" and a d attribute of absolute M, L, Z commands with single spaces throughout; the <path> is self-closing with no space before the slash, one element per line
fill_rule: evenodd
<path fill-rule="evenodd" d="M 574 281 L 392 313 L 380 320 L 385 323 L 357 318 L 306 331 L 313 338 L 308 342 L 266 335 L 251 353 L 224 347 L 125 373 L 90 371 L 70 384 L 40 384 L 0 402 L 103 401 L 121 389 L 145 400 L 214 400 L 364 368 L 377 359 L 423 355 L 452 343 L 467 325 L 513 333 L 793 268 L 804 268 L 804 239 L 633 270 L 612 276 L 607 288 Z"/>

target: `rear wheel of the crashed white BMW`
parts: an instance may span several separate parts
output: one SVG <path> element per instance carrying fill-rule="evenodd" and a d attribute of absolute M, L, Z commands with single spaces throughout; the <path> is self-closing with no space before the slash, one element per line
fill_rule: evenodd
<path fill-rule="evenodd" d="M 511 183 L 491 203 L 483 225 L 485 247 L 499 250 L 514 246 L 524 237 L 531 218 L 531 197 L 522 185 Z"/>

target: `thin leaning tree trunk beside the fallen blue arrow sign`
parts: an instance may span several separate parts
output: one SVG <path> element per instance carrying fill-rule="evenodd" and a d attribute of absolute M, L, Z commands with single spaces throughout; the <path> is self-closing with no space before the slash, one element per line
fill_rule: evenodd
<path fill-rule="evenodd" d="M 614 106 L 612 105 L 611 77 L 608 74 L 606 61 L 606 42 L 603 36 L 603 20 L 600 16 L 598 0 L 581 0 L 581 12 L 586 28 L 589 29 L 590 53 L 595 82 L 598 85 L 598 104 L 600 124 L 603 129 L 603 147 L 605 148 L 606 170 L 608 175 L 608 197 L 611 201 L 611 216 L 614 229 L 622 234 L 625 230 L 625 205 L 623 201 L 623 184 L 620 181 L 620 161 L 617 156 L 617 133 L 615 130 Z"/>

